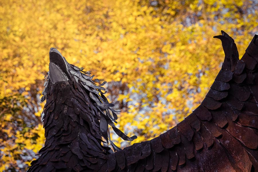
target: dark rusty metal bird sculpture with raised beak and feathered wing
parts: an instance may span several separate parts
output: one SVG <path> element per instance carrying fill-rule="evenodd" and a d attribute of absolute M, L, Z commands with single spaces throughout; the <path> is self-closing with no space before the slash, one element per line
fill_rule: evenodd
<path fill-rule="evenodd" d="M 42 93 L 46 142 L 28 171 L 258 171 L 258 36 L 241 60 L 228 34 L 214 38 L 225 60 L 201 105 L 164 134 L 123 150 L 108 125 L 124 140 L 136 136 L 115 127 L 105 83 L 96 85 L 51 48 Z"/>

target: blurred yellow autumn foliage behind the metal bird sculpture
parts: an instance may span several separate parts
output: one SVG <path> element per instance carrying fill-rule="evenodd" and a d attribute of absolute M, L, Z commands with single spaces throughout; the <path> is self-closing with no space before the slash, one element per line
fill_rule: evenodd
<path fill-rule="evenodd" d="M 159 136 L 202 101 L 224 53 L 257 34 L 255 0 L 0 0 L 0 171 L 25 171 L 44 144 L 40 102 L 48 51 L 107 81 L 118 128 Z"/>

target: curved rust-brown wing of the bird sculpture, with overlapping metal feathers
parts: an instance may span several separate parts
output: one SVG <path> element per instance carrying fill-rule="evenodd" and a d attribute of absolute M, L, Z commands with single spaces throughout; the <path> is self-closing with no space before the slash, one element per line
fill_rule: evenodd
<path fill-rule="evenodd" d="M 214 38 L 225 60 L 201 105 L 164 134 L 108 155 L 103 170 L 258 171 L 258 36 L 241 60 L 228 34 Z"/>

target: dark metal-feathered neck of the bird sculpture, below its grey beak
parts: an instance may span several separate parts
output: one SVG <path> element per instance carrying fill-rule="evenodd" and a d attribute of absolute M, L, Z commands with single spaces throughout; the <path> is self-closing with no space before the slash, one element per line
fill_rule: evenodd
<path fill-rule="evenodd" d="M 56 160 L 67 154 L 77 159 L 84 159 L 85 155 L 104 158 L 107 150 L 101 145 L 94 110 L 87 94 L 66 83 L 52 85 L 43 116 L 46 142 L 39 154 L 51 152 Z"/>

